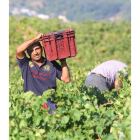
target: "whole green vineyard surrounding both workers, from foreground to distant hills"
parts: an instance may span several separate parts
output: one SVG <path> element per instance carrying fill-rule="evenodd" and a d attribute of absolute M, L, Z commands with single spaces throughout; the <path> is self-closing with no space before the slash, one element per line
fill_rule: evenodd
<path fill-rule="evenodd" d="M 42 96 L 24 93 L 16 62 L 16 47 L 38 33 L 74 29 L 78 54 L 68 58 L 71 82 L 57 80 L 57 90 Z M 9 139 L 10 140 L 130 140 L 131 139 L 131 24 L 121 21 L 62 23 L 57 19 L 9 18 Z M 129 68 L 121 73 L 122 87 L 98 92 L 86 88 L 87 73 L 100 63 L 116 59 Z M 58 61 L 59 62 L 59 61 Z M 48 97 L 59 108 L 49 115 Z"/>

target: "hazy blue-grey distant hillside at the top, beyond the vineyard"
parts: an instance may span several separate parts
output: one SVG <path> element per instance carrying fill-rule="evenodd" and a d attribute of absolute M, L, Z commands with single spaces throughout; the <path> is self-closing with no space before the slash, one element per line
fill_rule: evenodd
<path fill-rule="evenodd" d="M 107 20 L 120 21 L 131 20 L 131 1 L 130 0 L 10 0 L 9 12 L 13 8 L 19 10 L 24 7 L 34 10 L 39 14 L 49 15 L 51 18 L 57 18 L 64 15 L 70 21 L 84 20 Z"/>

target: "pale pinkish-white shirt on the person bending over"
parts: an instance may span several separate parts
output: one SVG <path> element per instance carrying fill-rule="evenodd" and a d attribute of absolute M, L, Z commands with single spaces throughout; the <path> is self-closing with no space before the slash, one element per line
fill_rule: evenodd
<path fill-rule="evenodd" d="M 108 88 L 114 88 L 114 82 L 117 76 L 119 75 L 118 71 L 123 71 L 125 75 L 128 75 L 125 71 L 124 67 L 128 67 L 126 64 L 117 61 L 117 60 L 109 60 L 94 68 L 91 73 L 101 74 L 106 77 Z"/>

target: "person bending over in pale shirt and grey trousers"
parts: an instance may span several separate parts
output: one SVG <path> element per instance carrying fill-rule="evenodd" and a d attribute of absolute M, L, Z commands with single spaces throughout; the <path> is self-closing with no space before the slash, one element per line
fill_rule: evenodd
<path fill-rule="evenodd" d="M 124 67 L 128 67 L 126 64 L 117 61 L 117 60 L 109 60 L 94 68 L 91 72 L 88 73 L 85 86 L 97 87 L 99 91 L 112 89 L 118 90 L 121 86 L 122 81 L 121 78 L 117 78 L 119 76 L 118 71 L 124 71 L 124 74 L 128 76 Z"/>

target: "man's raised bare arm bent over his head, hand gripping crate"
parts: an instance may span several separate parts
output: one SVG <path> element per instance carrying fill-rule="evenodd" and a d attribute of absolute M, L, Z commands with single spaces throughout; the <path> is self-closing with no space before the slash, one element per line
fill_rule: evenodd
<path fill-rule="evenodd" d="M 32 45 L 33 43 L 37 42 L 37 41 L 41 41 L 43 37 L 43 34 L 40 33 L 38 34 L 36 37 L 25 41 L 24 43 L 22 43 L 21 45 L 19 45 L 16 49 L 16 55 L 18 59 L 23 59 L 25 57 L 25 50 Z"/>

